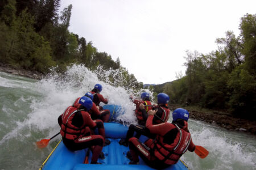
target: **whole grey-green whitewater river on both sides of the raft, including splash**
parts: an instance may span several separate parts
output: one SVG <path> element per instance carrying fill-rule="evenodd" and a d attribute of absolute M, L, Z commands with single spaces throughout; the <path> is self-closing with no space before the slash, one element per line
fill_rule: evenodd
<path fill-rule="evenodd" d="M 39 169 L 60 136 L 43 150 L 36 148 L 35 142 L 58 133 L 57 117 L 96 83 L 104 87 L 101 94 L 109 97 L 109 104 L 122 105 L 126 110 L 122 119 L 134 122 L 129 92 L 101 82 L 83 66 L 71 67 L 61 78 L 52 74 L 40 81 L 0 72 L 0 169 Z M 209 151 L 205 159 L 186 152 L 181 159 L 189 169 L 256 169 L 253 135 L 230 132 L 196 120 L 189 120 L 188 125 L 193 142 Z"/>

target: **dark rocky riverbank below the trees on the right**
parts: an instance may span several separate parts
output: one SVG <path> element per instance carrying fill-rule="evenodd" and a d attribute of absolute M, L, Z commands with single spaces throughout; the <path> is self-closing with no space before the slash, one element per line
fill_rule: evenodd
<path fill-rule="evenodd" d="M 209 124 L 217 125 L 228 130 L 243 131 L 245 133 L 256 135 L 256 121 L 234 117 L 232 114 L 225 112 L 201 109 L 199 107 L 170 105 L 170 108 L 172 110 L 176 108 L 184 108 L 189 112 L 189 117 L 195 120 L 208 122 Z"/>

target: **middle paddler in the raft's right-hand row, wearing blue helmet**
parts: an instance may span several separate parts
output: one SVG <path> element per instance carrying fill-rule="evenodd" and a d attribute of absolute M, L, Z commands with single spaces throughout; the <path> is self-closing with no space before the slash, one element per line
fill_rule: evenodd
<path fill-rule="evenodd" d="M 153 118 L 153 124 L 161 124 L 162 122 L 167 122 L 170 115 L 170 109 L 167 107 L 168 102 L 170 101 L 170 97 L 167 94 L 160 93 L 158 94 L 158 105 L 154 105 L 152 107 L 152 110 L 156 112 L 154 118 Z M 144 107 L 144 104 L 140 104 L 139 108 L 141 109 L 142 116 L 144 120 L 147 120 L 148 114 Z M 151 110 L 150 110 L 151 111 Z M 149 112 L 149 111 L 148 111 Z M 129 130 L 126 134 L 126 139 L 121 139 L 119 141 L 120 145 L 128 146 L 129 145 L 129 139 L 133 137 L 134 132 L 136 131 L 136 136 L 139 138 L 142 135 L 145 135 L 148 138 L 155 138 L 155 134 L 150 133 L 150 130 L 146 128 L 146 126 L 143 125 L 130 125 Z"/>

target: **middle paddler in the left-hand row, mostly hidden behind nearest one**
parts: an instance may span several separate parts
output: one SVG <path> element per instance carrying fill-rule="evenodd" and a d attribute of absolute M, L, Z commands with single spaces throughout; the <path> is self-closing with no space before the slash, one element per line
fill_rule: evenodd
<path fill-rule="evenodd" d="M 93 94 L 90 92 L 87 92 L 84 96 L 89 97 L 91 100 L 93 100 Z M 79 103 L 80 97 L 78 97 L 73 105 L 76 105 Z M 110 117 L 110 111 L 108 109 L 102 109 L 101 111 L 99 110 L 99 107 L 96 106 L 95 103 L 93 103 L 92 108 L 90 111 L 88 111 L 90 114 L 92 120 L 100 119 L 103 122 L 109 122 L 109 117 Z"/>

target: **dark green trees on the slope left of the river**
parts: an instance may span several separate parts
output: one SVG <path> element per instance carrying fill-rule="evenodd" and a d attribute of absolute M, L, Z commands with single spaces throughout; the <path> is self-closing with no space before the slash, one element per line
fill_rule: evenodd
<path fill-rule="evenodd" d="M 0 62 L 14 67 L 47 73 L 52 66 L 64 71 L 71 63 L 89 69 L 121 69 L 120 86 L 139 88 L 133 74 L 113 61 L 106 52 L 98 52 L 92 42 L 69 32 L 72 5 L 58 14 L 60 0 L 0 1 Z M 112 81 L 114 81 L 112 77 Z"/>

